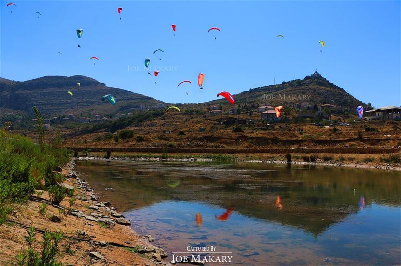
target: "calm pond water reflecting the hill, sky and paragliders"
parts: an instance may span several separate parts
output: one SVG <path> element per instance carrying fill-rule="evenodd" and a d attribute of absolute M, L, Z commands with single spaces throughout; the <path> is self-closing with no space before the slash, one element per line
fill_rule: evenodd
<path fill-rule="evenodd" d="M 213 245 L 231 264 L 401 264 L 399 172 L 134 161 L 77 170 L 168 261 Z"/>

